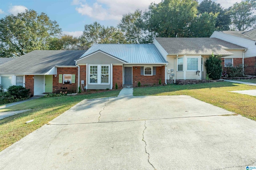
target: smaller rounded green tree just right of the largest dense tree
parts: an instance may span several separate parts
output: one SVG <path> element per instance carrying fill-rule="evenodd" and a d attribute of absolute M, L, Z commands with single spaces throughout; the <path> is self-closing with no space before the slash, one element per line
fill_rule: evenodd
<path fill-rule="evenodd" d="M 218 14 L 199 14 L 190 25 L 190 37 L 210 37 L 215 31 L 216 17 Z"/>

